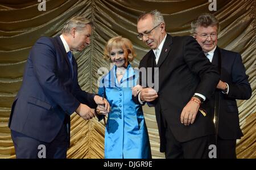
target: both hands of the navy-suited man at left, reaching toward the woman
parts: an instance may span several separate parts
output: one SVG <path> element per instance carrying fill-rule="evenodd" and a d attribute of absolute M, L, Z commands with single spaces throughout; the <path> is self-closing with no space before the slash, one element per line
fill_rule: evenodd
<path fill-rule="evenodd" d="M 94 101 L 98 105 L 96 111 L 98 114 L 108 114 L 110 112 L 110 105 L 106 99 L 102 99 L 102 97 L 95 95 Z M 96 116 L 94 109 L 88 107 L 88 105 L 80 104 L 79 108 L 76 109 L 76 113 L 79 114 L 84 120 L 89 120 Z"/>

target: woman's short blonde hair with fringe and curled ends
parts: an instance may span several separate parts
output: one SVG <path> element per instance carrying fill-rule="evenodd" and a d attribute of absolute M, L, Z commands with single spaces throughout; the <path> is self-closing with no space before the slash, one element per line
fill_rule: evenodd
<path fill-rule="evenodd" d="M 126 50 L 128 53 L 128 61 L 133 61 L 134 57 L 136 57 L 136 54 L 133 49 L 133 44 L 129 39 L 123 38 L 122 36 L 113 37 L 110 39 L 105 46 L 104 49 L 104 58 L 110 59 L 110 51 L 115 48 L 121 48 L 123 50 Z"/>

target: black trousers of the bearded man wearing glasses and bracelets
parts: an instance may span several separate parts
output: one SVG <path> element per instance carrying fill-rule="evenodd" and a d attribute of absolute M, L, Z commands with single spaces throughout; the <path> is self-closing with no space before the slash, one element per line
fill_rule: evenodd
<path fill-rule="evenodd" d="M 207 159 L 209 158 L 208 147 L 212 144 L 214 135 L 192 139 L 187 142 L 179 142 L 172 134 L 172 131 L 166 129 L 166 158 L 167 159 Z"/>

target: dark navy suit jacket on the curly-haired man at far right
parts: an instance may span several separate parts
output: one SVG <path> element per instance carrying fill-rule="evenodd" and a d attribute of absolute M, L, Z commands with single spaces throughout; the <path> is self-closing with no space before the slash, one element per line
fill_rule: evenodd
<path fill-rule="evenodd" d="M 220 56 L 219 56 L 220 55 Z M 239 53 L 216 48 L 213 65 L 218 66 L 221 58 L 221 80 L 229 84 L 228 95 L 220 92 L 218 136 L 222 139 L 240 139 L 243 134 L 240 129 L 236 99 L 247 100 L 251 97 L 249 76 Z"/>

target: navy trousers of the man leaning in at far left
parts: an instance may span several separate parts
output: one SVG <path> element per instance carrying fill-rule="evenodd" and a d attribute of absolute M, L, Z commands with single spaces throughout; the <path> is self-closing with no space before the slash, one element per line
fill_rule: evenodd
<path fill-rule="evenodd" d="M 67 158 L 68 132 L 65 124 L 63 124 L 55 139 L 50 143 L 38 141 L 14 130 L 11 130 L 11 138 L 13 139 L 15 154 L 18 159 Z M 43 153 L 44 151 L 46 154 Z"/>

